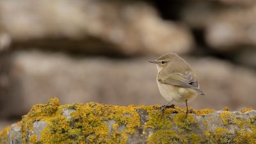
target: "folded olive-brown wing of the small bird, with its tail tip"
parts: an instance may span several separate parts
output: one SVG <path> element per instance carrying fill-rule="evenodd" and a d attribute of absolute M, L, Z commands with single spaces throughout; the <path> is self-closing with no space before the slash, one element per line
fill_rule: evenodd
<path fill-rule="evenodd" d="M 199 94 L 205 95 L 204 92 L 199 90 L 198 80 L 195 74 L 193 74 L 192 72 L 185 72 L 184 74 L 179 72 L 174 72 L 171 74 L 166 72 L 159 72 L 159 77 L 157 77 L 157 81 L 160 83 L 170 84 L 173 86 L 179 86 L 184 88 L 192 88 Z"/>

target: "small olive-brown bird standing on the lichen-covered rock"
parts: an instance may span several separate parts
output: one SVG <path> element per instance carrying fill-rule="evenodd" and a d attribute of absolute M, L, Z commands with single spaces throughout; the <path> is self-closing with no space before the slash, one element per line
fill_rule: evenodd
<path fill-rule="evenodd" d="M 170 102 L 186 102 L 186 115 L 188 114 L 188 102 L 197 95 L 205 95 L 199 89 L 198 79 L 189 64 L 175 53 L 163 54 L 157 60 L 149 61 L 156 63 L 157 85 L 163 97 Z M 161 109 L 162 113 L 168 104 Z"/>

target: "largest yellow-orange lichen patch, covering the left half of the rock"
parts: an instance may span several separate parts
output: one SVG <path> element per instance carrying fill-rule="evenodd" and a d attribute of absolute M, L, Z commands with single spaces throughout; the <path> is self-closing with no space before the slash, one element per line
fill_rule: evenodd
<path fill-rule="evenodd" d="M 74 110 L 70 112 L 72 120 L 63 116 L 63 109 Z M 27 140 L 27 136 L 37 120 L 44 120 L 49 125 L 41 132 L 38 143 L 126 143 L 127 134 L 134 133 L 140 126 L 135 106 L 109 106 L 94 102 L 60 106 L 58 99 L 51 99 L 45 105 L 33 106 L 22 118 L 22 143 L 35 141 L 33 137 Z M 115 120 L 116 127 L 125 125 L 124 131 L 114 127 L 109 136 L 108 120 Z"/>

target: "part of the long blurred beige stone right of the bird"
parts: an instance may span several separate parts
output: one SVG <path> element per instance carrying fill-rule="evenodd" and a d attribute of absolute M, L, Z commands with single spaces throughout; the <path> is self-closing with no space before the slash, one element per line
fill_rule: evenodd
<path fill-rule="evenodd" d="M 252 93 L 256 92 L 255 71 L 214 58 L 188 61 L 198 74 L 201 89 L 207 93 L 205 97 L 197 97 L 192 102 L 195 102 L 196 108 L 254 108 L 256 98 Z"/>

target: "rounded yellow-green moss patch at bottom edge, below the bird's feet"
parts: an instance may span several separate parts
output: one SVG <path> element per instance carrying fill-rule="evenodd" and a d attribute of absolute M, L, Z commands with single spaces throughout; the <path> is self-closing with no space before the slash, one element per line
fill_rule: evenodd
<path fill-rule="evenodd" d="M 172 130 L 159 130 L 154 132 L 154 134 L 148 138 L 147 142 L 148 144 L 187 143 L 187 141 L 184 141 L 178 134 L 176 134 L 175 131 Z"/>

